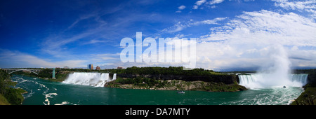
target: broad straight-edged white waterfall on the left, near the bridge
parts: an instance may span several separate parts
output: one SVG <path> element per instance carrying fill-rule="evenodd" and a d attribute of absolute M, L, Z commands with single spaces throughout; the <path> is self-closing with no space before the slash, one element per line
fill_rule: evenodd
<path fill-rule="evenodd" d="M 110 80 L 115 80 L 116 78 L 116 73 L 114 73 L 113 76 L 110 76 L 109 73 L 75 72 L 70 73 L 68 78 L 62 81 L 62 83 L 103 87 L 105 83 L 109 82 Z"/>

